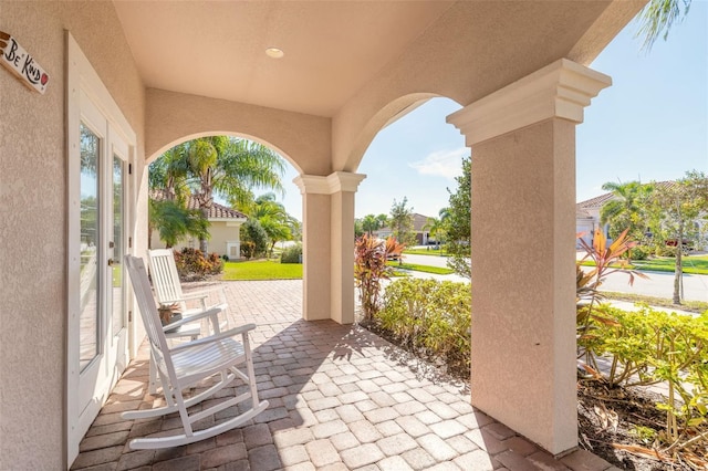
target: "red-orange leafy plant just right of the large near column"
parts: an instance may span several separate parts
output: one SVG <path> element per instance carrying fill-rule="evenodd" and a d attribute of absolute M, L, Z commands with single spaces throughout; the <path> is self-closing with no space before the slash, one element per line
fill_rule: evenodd
<path fill-rule="evenodd" d="M 607 275 L 615 272 L 626 273 L 629 276 L 629 285 L 634 284 L 635 276 L 648 279 L 644 273 L 628 269 L 629 262 L 623 259 L 623 255 L 638 243 L 631 241 L 627 238 L 627 232 L 628 229 L 625 229 L 611 244 L 607 244 L 605 234 L 600 229 L 596 229 L 592 245 L 582 238 L 582 233 L 577 234 L 577 241 L 586 252 L 580 262 L 591 259 L 595 263 L 595 266 L 589 272 L 584 272 L 580 266 L 577 268 L 577 301 L 580 302 L 581 299 L 590 297 L 590 304 L 579 308 L 577 312 L 579 341 L 581 343 L 582 341 L 589 339 L 591 321 L 603 324 L 616 324 L 612 318 L 593 313 L 595 301 L 601 297 L 597 289 Z"/>

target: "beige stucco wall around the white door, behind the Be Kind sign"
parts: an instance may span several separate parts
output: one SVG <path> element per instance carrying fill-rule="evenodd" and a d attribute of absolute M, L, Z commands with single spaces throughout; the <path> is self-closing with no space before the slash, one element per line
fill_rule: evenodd
<path fill-rule="evenodd" d="M 139 161 L 144 92 L 110 2 L 0 1 L 0 30 L 51 76 L 40 95 L 0 70 L 0 469 L 65 469 L 64 30 L 137 133 Z"/>

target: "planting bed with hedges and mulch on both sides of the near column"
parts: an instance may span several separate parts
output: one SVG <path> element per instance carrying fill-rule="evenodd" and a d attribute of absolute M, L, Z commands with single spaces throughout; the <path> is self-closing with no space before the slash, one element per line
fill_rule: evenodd
<path fill-rule="evenodd" d="M 381 310 L 362 322 L 362 326 L 419 358 L 417 369 L 426 364 L 427 368 L 437 368 L 469 387 L 470 323 L 465 300 L 469 300 L 468 284 L 396 281 L 387 286 Z M 602 322 L 593 326 L 593 337 L 583 343 L 595 352 L 604 352 L 607 363 L 602 373 L 592 368 L 590 375 L 579 373 L 580 447 L 620 469 L 708 469 L 708 427 L 706 411 L 701 409 L 705 396 L 700 383 L 696 383 L 702 380 L 706 369 L 701 353 L 705 324 L 646 307 L 638 313 L 604 307 L 598 314 L 602 316 L 596 318 Z M 676 352 L 662 346 L 669 343 Z M 450 348 L 452 344 L 455 348 Z M 685 354 L 681 356 L 679 350 Z M 467 357 L 461 353 L 467 353 Z M 624 375 L 624 366 L 607 370 L 613 360 L 616 365 L 629 365 L 631 374 Z M 596 367 L 594 362 L 593 365 Z M 664 370 L 657 371 L 656 365 Z M 635 368 L 641 370 L 638 375 Z M 700 378 L 690 379 L 687 373 Z M 647 386 L 627 386 L 637 381 L 664 383 L 664 375 L 680 377 L 674 383 L 675 440 L 666 435 L 667 398 L 652 393 Z M 694 393 L 683 389 L 684 381 L 694 381 Z M 687 414 L 681 410 L 679 394 L 697 401 Z"/>

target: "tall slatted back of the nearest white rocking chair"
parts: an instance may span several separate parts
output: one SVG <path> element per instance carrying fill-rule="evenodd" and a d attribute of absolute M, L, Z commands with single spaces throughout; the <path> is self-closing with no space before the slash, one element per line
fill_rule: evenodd
<path fill-rule="evenodd" d="M 174 376 L 174 365 L 169 355 L 163 354 L 163 352 L 169 352 L 169 348 L 167 345 L 167 338 L 163 331 L 163 324 L 159 320 L 155 299 L 153 297 L 150 282 L 147 279 L 145 263 L 143 262 L 143 259 L 137 257 L 125 255 L 125 265 L 128 270 L 133 292 L 135 293 L 138 310 L 140 311 L 140 316 L 145 324 L 145 329 L 147 331 L 147 337 L 150 342 L 153 358 L 158 367 L 165 365 L 171 378 Z"/>

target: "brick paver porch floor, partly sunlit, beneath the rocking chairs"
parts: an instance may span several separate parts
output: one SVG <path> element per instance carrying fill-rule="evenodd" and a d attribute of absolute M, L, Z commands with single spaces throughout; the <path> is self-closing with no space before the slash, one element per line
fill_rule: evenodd
<path fill-rule="evenodd" d="M 143 346 L 81 442 L 72 469 L 616 470 L 582 450 L 554 460 L 475 410 L 464 384 L 424 368 L 368 331 L 302 321 L 302 281 L 223 286 L 230 325 L 258 325 L 251 336 L 254 367 L 269 408 L 211 439 L 133 451 L 132 438 L 180 425 L 175 415 L 119 417 L 160 400 L 147 393 Z M 210 420 L 235 414 L 226 409 Z"/>

